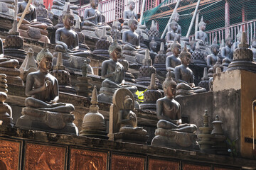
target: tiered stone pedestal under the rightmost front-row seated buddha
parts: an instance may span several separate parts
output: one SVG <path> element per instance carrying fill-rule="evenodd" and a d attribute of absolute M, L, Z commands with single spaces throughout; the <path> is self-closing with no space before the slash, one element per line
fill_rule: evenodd
<path fill-rule="evenodd" d="M 176 132 L 157 128 L 151 145 L 158 147 L 174 147 L 176 149 L 199 149 L 195 133 Z"/>

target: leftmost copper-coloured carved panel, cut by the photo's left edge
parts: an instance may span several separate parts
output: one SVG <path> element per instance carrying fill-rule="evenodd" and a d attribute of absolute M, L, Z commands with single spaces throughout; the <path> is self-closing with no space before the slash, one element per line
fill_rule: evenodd
<path fill-rule="evenodd" d="M 0 169 L 19 169 L 20 142 L 0 140 Z"/>

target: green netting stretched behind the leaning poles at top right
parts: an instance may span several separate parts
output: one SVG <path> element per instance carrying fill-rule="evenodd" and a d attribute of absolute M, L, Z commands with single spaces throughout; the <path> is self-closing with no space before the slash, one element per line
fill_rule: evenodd
<path fill-rule="evenodd" d="M 169 3 L 169 0 L 162 1 L 159 6 L 152 8 L 149 11 L 144 13 L 143 22 L 146 23 L 147 28 L 150 28 L 151 21 L 154 20 L 158 23 L 160 35 L 164 32 L 166 24 L 171 17 L 171 12 L 174 10 L 176 4 L 166 4 Z M 182 36 L 186 36 L 188 28 L 190 26 L 193 12 L 196 8 L 197 0 L 181 0 L 180 5 L 178 6 L 178 13 L 180 14 L 180 21 L 178 24 L 182 29 Z M 238 25 L 239 23 L 246 23 L 243 30 L 248 32 L 250 37 L 255 35 L 255 23 L 252 23 L 252 26 L 248 25 L 247 22 L 254 21 L 256 18 L 255 9 L 256 3 L 255 0 L 230 0 L 229 1 L 229 10 L 230 10 L 230 26 Z M 242 9 L 243 8 L 243 9 Z M 242 15 L 242 11 L 245 11 Z M 210 30 L 216 30 L 220 28 L 225 28 L 225 0 L 211 0 L 211 1 L 201 1 L 201 4 L 198 8 L 199 12 L 199 21 L 201 16 L 207 24 L 206 32 Z M 230 34 L 232 33 L 233 39 L 235 40 L 235 35 L 238 33 L 239 27 L 230 28 Z M 232 30 L 231 30 L 232 29 Z M 191 34 L 195 33 L 195 24 L 191 30 Z M 221 33 L 220 33 L 221 34 Z M 218 35 L 219 36 L 219 35 Z M 225 37 L 225 33 L 223 35 Z M 220 40 L 218 40 L 220 42 Z"/>

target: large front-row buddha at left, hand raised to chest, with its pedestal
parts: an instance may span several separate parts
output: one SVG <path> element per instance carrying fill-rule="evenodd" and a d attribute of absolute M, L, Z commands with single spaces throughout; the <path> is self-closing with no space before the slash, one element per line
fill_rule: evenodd
<path fill-rule="evenodd" d="M 38 53 L 38 71 L 28 74 L 26 79 L 26 108 L 18 118 L 19 128 L 44 130 L 48 132 L 78 134 L 78 128 L 73 124 L 74 106 L 68 103 L 57 103 L 59 99 L 58 81 L 50 75 L 53 55 L 43 48 Z"/>

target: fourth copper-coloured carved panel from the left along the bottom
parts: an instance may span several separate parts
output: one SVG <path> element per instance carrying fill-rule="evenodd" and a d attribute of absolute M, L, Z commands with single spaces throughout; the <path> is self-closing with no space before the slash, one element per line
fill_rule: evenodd
<path fill-rule="evenodd" d="M 129 157 L 112 154 L 112 170 L 144 170 L 145 159 L 142 157 Z"/>

